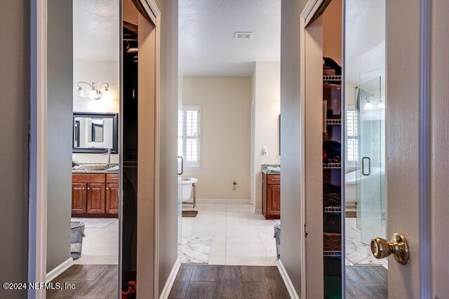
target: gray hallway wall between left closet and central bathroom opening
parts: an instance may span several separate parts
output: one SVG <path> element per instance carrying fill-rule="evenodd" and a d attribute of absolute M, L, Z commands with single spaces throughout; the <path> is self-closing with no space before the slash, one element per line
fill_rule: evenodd
<path fill-rule="evenodd" d="M 156 4 L 161 10 L 160 294 L 177 259 L 177 0 Z"/>

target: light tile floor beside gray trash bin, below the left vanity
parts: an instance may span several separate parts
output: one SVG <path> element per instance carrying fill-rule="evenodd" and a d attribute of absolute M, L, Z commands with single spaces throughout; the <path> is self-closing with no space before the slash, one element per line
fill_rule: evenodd
<path fill-rule="evenodd" d="M 91 222 L 95 222 L 91 218 Z M 102 222 L 99 220 L 99 222 Z M 95 226 L 95 225 L 94 225 Z M 100 226 L 100 225 L 99 225 Z M 119 221 L 102 228 L 86 227 L 81 258 L 75 265 L 117 265 L 119 263 Z"/>

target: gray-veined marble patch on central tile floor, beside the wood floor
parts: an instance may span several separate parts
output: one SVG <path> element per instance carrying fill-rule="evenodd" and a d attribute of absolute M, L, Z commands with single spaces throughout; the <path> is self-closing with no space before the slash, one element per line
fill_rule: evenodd
<path fill-rule="evenodd" d="M 183 237 L 177 244 L 177 256 L 182 264 L 208 264 L 210 246 L 210 237 Z"/>

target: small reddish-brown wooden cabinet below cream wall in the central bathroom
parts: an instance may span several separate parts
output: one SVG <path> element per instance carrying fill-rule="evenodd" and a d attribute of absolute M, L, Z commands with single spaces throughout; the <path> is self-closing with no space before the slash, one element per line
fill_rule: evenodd
<path fill-rule="evenodd" d="M 262 213 L 265 219 L 281 218 L 281 175 L 262 173 Z"/>

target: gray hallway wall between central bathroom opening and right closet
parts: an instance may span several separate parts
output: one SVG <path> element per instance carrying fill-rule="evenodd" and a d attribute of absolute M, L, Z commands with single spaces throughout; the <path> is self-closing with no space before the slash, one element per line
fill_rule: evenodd
<path fill-rule="evenodd" d="M 281 4 L 281 261 L 301 292 L 300 13 L 306 0 Z"/>

